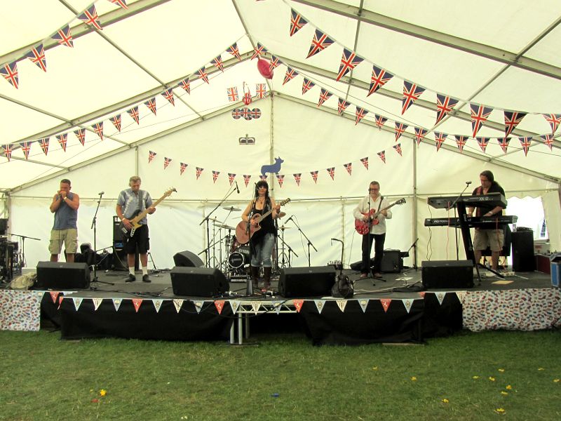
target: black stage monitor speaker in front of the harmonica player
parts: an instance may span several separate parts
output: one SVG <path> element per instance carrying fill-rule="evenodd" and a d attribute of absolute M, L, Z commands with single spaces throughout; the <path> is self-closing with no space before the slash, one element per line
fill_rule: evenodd
<path fill-rule="evenodd" d="M 86 263 L 37 263 L 36 288 L 74 290 L 90 288 L 90 267 Z"/>

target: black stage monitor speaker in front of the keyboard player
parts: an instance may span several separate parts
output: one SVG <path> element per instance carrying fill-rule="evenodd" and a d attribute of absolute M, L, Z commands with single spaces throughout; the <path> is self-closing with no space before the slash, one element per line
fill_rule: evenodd
<path fill-rule="evenodd" d="M 471 260 L 433 260 L 421 263 L 425 288 L 473 288 Z"/>

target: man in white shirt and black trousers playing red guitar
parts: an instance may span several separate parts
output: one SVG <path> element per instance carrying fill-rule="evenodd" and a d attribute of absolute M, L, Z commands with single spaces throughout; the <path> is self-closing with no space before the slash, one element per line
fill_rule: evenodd
<path fill-rule="evenodd" d="M 370 182 L 368 196 L 363 197 L 353 211 L 353 216 L 357 220 L 363 220 L 370 224 L 370 229 L 363 235 L 363 265 L 360 269 L 360 278 L 366 278 L 370 273 L 370 252 L 372 241 L 374 241 L 374 265 L 372 275 L 376 279 L 381 279 L 380 267 L 381 259 L 384 256 L 384 241 L 386 241 L 386 219 L 391 219 L 389 203 L 384 196 L 380 195 L 380 183 Z M 372 215 L 379 210 L 376 220 L 372 220 Z"/>

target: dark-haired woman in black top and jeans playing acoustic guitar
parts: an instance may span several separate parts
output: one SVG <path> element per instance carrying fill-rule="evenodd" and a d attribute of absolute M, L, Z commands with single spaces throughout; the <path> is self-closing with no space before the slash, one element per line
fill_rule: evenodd
<path fill-rule="evenodd" d="M 272 213 L 267 215 L 263 220 L 260 217 L 251 218 L 250 215 L 263 215 L 264 213 L 273 210 Z M 245 208 L 241 219 L 245 222 L 250 222 L 252 227 L 261 226 L 261 229 L 256 231 L 250 239 L 251 250 L 251 279 L 254 288 L 257 288 L 257 278 L 259 277 L 259 267 L 263 265 L 263 281 L 264 289 L 271 286 L 271 254 L 273 253 L 273 246 L 275 245 L 276 227 L 273 219 L 277 218 L 280 205 L 275 203 L 275 200 L 269 197 L 269 185 L 264 180 L 260 180 L 255 185 L 255 200 L 248 204 Z"/>

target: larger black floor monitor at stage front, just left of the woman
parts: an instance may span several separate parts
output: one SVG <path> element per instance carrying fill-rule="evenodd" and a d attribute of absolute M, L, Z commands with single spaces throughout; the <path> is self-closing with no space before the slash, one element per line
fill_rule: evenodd
<path fill-rule="evenodd" d="M 214 267 L 174 267 L 170 275 L 175 295 L 215 297 L 229 288 L 226 276 Z"/>

